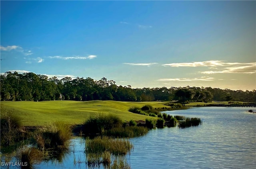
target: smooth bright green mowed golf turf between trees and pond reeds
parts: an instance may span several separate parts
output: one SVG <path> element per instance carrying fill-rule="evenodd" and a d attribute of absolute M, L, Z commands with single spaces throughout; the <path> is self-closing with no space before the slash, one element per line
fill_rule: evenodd
<path fill-rule="evenodd" d="M 54 121 L 64 121 L 68 125 L 82 124 L 89 116 L 99 113 L 113 114 L 123 121 L 156 118 L 131 113 L 130 107 L 146 104 L 155 107 L 169 107 L 167 102 L 126 102 L 126 101 L 1 101 L 1 114 L 11 111 L 18 115 L 25 126 L 48 125 Z"/>

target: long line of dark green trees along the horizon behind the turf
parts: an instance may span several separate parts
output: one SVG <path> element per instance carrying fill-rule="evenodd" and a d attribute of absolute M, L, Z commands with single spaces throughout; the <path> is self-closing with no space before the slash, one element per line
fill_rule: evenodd
<path fill-rule="evenodd" d="M 113 80 L 102 78 L 70 77 L 58 80 L 32 72 L 18 74 L 6 72 L 0 75 L 0 100 L 116 100 L 116 101 L 246 101 L 256 102 L 256 90 L 242 91 L 212 87 L 155 87 L 132 88 L 116 85 Z"/>

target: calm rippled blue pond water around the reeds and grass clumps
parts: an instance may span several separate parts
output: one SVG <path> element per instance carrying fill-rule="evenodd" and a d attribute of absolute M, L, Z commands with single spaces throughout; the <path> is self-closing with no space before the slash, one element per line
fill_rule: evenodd
<path fill-rule="evenodd" d="M 152 129 L 132 138 L 134 149 L 126 159 L 132 169 L 256 169 L 256 114 L 245 107 L 196 107 L 165 111 L 199 117 L 203 125 Z M 44 161 L 36 169 L 84 169 L 84 139 L 72 139 L 60 158 Z M 74 163 L 81 161 L 82 163 Z M 2 168 L 2 167 L 1 167 Z"/>

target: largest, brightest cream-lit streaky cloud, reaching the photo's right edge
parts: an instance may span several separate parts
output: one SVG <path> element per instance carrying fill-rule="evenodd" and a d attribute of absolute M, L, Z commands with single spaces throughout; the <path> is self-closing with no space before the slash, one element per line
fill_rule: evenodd
<path fill-rule="evenodd" d="M 242 73 L 254 74 L 256 73 L 256 62 L 238 63 L 238 62 L 223 62 L 220 60 L 210 60 L 204 62 L 188 62 L 188 63 L 172 63 L 163 64 L 162 66 L 170 67 L 208 67 L 215 71 L 204 71 L 202 74 L 218 74 L 218 73 Z"/>

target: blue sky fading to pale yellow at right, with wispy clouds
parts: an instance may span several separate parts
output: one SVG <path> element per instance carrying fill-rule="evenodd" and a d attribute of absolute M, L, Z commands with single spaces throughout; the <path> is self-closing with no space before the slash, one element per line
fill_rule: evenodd
<path fill-rule="evenodd" d="M 0 1 L 0 72 L 256 89 L 256 1 Z"/>

